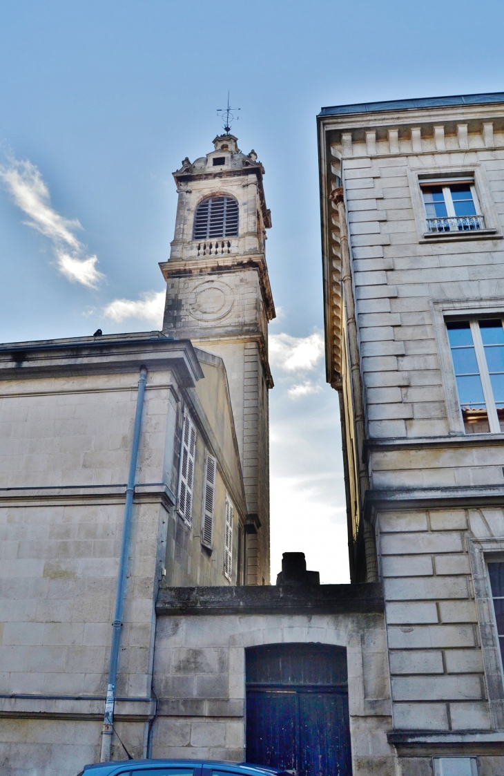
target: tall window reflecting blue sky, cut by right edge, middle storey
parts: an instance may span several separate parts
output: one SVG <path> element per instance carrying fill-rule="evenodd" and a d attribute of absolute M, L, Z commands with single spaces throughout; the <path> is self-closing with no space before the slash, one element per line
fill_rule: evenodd
<path fill-rule="evenodd" d="M 466 434 L 504 431 L 502 320 L 457 320 L 447 330 Z"/>

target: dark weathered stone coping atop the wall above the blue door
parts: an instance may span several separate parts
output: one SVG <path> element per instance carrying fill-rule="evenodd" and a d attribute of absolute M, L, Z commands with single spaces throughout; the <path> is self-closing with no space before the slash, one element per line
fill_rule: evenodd
<path fill-rule="evenodd" d="M 157 615 L 381 614 L 379 583 L 161 587 Z"/>

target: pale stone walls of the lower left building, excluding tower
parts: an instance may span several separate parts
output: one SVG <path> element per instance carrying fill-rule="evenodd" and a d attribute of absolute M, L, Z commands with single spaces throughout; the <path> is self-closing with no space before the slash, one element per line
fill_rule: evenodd
<path fill-rule="evenodd" d="M 137 757 L 154 715 L 161 580 L 230 586 L 240 577 L 245 493 L 222 359 L 159 332 L 2 345 L 2 772 L 75 776 L 99 760 L 140 365 L 147 390 L 116 688 L 116 729 L 126 725 Z M 182 407 L 197 435 L 192 531 L 177 511 Z M 216 458 L 211 551 L 200 542 L 205 452 Z"/>

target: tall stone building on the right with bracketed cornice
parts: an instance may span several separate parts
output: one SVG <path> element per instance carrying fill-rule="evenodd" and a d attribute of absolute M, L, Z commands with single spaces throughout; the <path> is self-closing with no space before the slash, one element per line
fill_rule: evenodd
<path fill-rule="evenodd" d="M 318 130 L 350 570 L 385 597 L 379 772 L 501 774 L 504 93 L 329 107 Z"/>

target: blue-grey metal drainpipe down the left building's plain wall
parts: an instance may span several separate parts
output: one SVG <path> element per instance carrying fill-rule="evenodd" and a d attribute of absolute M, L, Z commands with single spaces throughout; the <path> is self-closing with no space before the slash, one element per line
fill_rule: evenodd
<path fill-rule="evenodd" d="M 102 729 L 102 751 L 100 762 L 108 763 L 112 747 L 112 733 L 114 722 L 114 702 L 116 699 L 117 663 L 119 660 L 119 641 L 121 628 L 123 627 L 124 589 L 126 587 L 126 569 L 128 563 L 129 534 L 131 533 L 131 516 L 133 513 L 133 494 L 135 492 L 136 462 L 138 459 L 138 447 L 140 442 L 140 426 L 142 424 L 143 396 L 147 380 L 147 366 L 140 367 L 140 379 L 138 381 L 138 394 L 136 396 L 135 424 L 133 427 L 133 442 L 131 444 L 131 458 L 129 459 L 128 484 L 126 487 L 126 504 L 124 505 L 123 539 L 121 542 L 121 555 L 119 558 L 119 571 L 117 573 L 116 608 L 114 610 L 114 622 L 112 622 L 112 643 L 110 645 L 109 683 L 107 698 L 105 701 L 105 715 Z"/>

